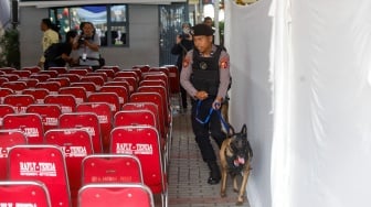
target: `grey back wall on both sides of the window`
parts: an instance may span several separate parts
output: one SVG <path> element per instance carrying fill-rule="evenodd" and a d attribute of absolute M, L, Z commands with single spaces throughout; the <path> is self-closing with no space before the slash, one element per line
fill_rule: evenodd
<path fill-rule="evenodd" d="M 21 7 L 21 65 L 38 64 L 42 54 L 40 21 L 47 18 L 47 9 Z M 158 6 L 129 6 L 129 47 L 102 47 L 107 65 L 130 68 L 132 65 L 159 65 Z M 30 18 L 32 17 L 32 18 Z"/>

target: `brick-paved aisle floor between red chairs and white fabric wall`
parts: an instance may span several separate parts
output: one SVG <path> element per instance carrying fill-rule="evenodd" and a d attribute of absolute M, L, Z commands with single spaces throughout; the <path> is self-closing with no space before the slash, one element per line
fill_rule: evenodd
<path fill-rule="evenodd" d="M 237 194 L 227 181 L 227 196 L 220 196 L 220 184 L 209 185 L 209 168 L 202 161 L 191 130 L 190 110 L 173 112 L 172 148 L 169 166 L 169 207 L 232 207 Z M 216 150 L 218 146 L 214 145 Z M 158 205 L 157 205 L 158 206 Z M 243 206 L 248 207 L 248 201 Z"/>

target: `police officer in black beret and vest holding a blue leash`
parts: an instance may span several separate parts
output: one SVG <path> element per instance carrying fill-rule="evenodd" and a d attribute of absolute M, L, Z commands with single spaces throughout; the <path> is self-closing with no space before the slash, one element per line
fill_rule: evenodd
<path fill-rule="evenodd" d="M 219 148 L 226 138 L 222 131 L 220 111 L 230 84 L 230 57 L 225 50 L 212 43 L 213 30 L 206 24 L 193 26 L 194 48 L 188 52 L 180 83 L 192 99 L 192 130 L 210 168 L 208 183 L 218 184 L 221 173 L 210 134 Z"/>

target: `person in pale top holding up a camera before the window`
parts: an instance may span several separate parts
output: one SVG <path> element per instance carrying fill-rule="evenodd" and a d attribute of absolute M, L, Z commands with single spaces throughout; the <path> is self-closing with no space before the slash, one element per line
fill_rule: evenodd
<path fill-rule="evenodd" d="M 75 37 L 73 48 L 77 50 L 78 59 L 75 59 L 77 66 L 92 66 L 98 69 L 100 39 L 95 34 L 95 28 L 92 22 L 82 22 L 80 25 L 82 33 Z"/>

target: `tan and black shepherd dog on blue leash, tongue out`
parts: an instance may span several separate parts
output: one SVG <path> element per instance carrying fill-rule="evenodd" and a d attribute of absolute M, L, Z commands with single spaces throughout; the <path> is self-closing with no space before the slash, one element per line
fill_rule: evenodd
<path fill-rule="evenodd" d="M 253 150 L 247 140 L 246 124 L 242 127 L 242 130 L 239 133 L 234 133 L 232 127 L 230 131 L 232 131 L 232 134 L 223 141 L 220 149 L 220 159 L 222 165 L 221 196 L 226 196 L 226 177 L 227 174 L 231 174 L 233 178 L 233 190 L 239 193 L 236 205 L 242 205 L 244 203 L 247 178 L 250 171 L 252 170 L 251 160 L 253 157 Z M 242 175 L 242 184 L 240 189 L 237 187 L 237 174 Z"/>

